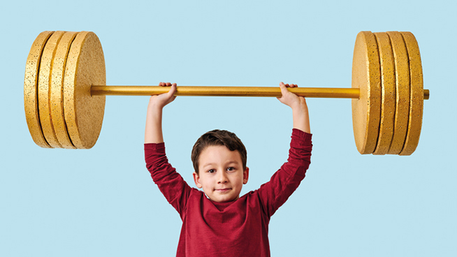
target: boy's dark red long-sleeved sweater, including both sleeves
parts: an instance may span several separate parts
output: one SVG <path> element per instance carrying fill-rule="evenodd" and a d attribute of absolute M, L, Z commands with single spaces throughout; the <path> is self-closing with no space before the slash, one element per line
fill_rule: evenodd
<path fill-rule="evenodd" d="M 184 182 L 168 163 L 164 143 L 145 144 L 147 170 L 182 219 L 176 256 L 270 256 L 270 216 L 305 177 L 311 137 L 293 129 L 289 159 L 270 182 L 229 203 L 213 202 Z"/>

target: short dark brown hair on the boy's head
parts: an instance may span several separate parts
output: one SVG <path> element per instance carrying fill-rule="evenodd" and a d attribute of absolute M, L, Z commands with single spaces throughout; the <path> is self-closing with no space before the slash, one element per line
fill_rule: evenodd
<path fill-rule="evenodd" d="M 241 156 L 242 168 L 243 170 L 246 170 L 247 152 L 246 147 L 242 144 L 240 138 L 238 138 L 235 133 L 230 131 L 215 129 L 201 135 L 192 148 L 191 159 L 192 163 L 194 163 L 194 170 L 197 174 L 198 158 L 200 157 L 201 152 L 203 152 L 206 147 L 213 145 L 224 145 L 229 148 L 230 151 L 238 151 Z"/>

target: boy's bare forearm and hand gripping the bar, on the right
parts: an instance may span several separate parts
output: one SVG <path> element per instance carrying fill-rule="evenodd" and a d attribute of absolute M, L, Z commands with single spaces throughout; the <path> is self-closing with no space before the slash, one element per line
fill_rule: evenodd
<path fill-rule="evenodd" d="M 284 83 L 281 82 L 280 88 L 282 96 L 277 99 L 281 103 L 292 108 L 293 129 L 300 129 L 300 131 L 311 133 L 310 117 L 308 115 L 308 107 L 305 98 L 293 94 L 291 91 L 287 90 L 287 87 L 297 87 L 297 85 L 284 85 Z"/>

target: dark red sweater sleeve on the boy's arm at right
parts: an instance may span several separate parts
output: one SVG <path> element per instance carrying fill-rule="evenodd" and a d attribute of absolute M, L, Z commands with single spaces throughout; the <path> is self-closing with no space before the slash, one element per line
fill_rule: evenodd
<path fill-rule="evenodd" d="M 312 135 L 293 129 L 289 159 L 277 170 L 270 181 L 259 189 L 259 198 L 268 216 L 272 216 L 305 178 L 311 162 Z"/>

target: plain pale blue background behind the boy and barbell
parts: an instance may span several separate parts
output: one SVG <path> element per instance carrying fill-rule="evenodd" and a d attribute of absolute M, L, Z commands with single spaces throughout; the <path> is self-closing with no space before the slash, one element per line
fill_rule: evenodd
<path fill-rule="evenodd" d="M 351 87 L 359 31 L 412 31 L 425 102 L 412 156 L 362 156 L 349 99 L 310 98 L 307 177 L 270 221 L 272 256 L 457 256 L 455 1 L 6 1 L 0 6 L 0 256 L 174 256 L 180 218 L 143 159 L 147 96 L 108 96 L 89 150 L 42 149 L 27 129 L 24 66 L 41 31 L 94 31 L 108 85 Z M 275 98 L 178 97 L 171 163 L 211 129 L 248 149 L 249 183 L 286 160 L 291 110 Z M 454 168 L 453 168 L 454 167 Z M 217 242 L 215 242 L 217 243 Z"/>

